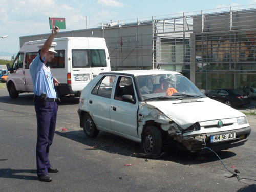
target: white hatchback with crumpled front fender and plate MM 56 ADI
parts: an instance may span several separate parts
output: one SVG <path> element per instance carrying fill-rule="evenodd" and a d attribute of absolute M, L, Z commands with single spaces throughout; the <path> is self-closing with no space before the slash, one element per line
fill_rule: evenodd
<path fill-rule="evenodd" d="M 150 157 L 169 146 L 224 150 L 243 145 L 251 132 L 243 113 L 172 71 L 101 73 L 83 89 L 78 114 L 88 137 L 109 132 L 141 143 Z"/>

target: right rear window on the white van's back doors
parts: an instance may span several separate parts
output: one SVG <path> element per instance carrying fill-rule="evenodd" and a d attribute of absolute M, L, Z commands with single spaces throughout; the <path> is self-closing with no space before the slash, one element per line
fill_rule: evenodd
<path fill-rule="evenodd" d="M 104 49 L 92 49 L 91 67 L 106 67 L 106 54 Z"/>

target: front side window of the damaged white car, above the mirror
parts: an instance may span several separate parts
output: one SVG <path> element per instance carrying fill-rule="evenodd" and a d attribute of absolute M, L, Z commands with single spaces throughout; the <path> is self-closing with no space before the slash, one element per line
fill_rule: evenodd
<path fill-rule="evenodd" d="M 133 99 L 135 99 L 133 81 L 130 77 L 118 78 L 114 99 L 122 100 L 123 95 L 132 95 Z"/>

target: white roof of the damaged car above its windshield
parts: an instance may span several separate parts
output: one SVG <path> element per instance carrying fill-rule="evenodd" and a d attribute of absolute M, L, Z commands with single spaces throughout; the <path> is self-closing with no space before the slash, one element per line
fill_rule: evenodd
<path fill-rule="evenodd" d="M 175 71 L 167 71 L 167 70 L 160 70 L 160 69 L 111 71 L 111 72 L 104 72 L 100 74 L 126 74 L 126 75 L 134 75 L 136 77 L 136 76 L 143 76 L 143 75 L 166 74 L 166 73 L 181 74 Z"/>

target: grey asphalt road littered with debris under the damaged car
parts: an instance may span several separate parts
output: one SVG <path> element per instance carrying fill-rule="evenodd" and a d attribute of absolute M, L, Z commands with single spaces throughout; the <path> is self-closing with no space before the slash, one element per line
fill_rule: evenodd
<path fill-rule="evenodd" d="M 100 132 L 87 138 L 79 127 L 78 98 L 59 105 L 50 160 L 53 181 L 36 176 L 36 116 L 33 94 L 11 99 L 0 88 L 0 191 L 256 191 L 256 117 L 245 145 L 218 153 L 170 151 L 159 159 L 139 155 L 138 143 Z M 67 131 L 62 131 L 67 129 Z M 125 166 L 132 164 L 131 166 Z"/>

